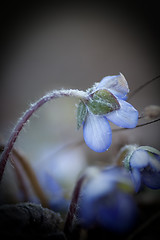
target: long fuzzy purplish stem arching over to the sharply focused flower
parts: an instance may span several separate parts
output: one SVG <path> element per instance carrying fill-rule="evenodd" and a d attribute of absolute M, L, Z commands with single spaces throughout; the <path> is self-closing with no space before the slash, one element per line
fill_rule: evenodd
<path fill-rule="evenodd" d="M 20 131 L 22 130 L 23 126 L 25 125 L 25 123 L 28 121 L 28 119 L 32 116 L 33 113 L 35 113 L 35 111 L 40 108 L 44 103 L 52 100 L 52 99 L 56 99 L 59 97 L 68 97 L 68 96 L 72 96 L 72 97 L 77 97 L 80 99 L 88 99 L 88 94 L 84 91 L 79 91 L 79 90 L 56 90 L 56 91 L 52 91 L 50 93 L 48 93 L 47 95 L 43 96 L 42 98 L 40 98 L 37 102 L 35 102 L 34 104 L 31 104 L 30 108 L 23 114 L 23 116 L 18 120 L 15 128 L 13 129 L 11 136 L 7 142 L 7 144 L 5 145 L 4 151 L 1 155 L 0 158 L 0 181 L 2 179 L 3 176 L 3 172 L 5 169 L 5 165 L 7 163 L 7 159 L 9 157 L 9 154 L 13 148 L 13 145 L 20 133 Z"/>

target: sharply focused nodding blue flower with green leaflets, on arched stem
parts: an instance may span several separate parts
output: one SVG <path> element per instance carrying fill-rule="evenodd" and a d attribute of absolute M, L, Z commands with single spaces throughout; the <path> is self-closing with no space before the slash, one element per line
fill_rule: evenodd
<path fill-rule="evenodd" d="M 85 116 L 82 117 L 84 140 L 95 152 L 104 152 L 111 145 L 112 130 L 109 121 L 123 128 L 134 128 L 138 122 L 138 111 L 125 101 L 129 88 L 122 74 L 104 77 L 100 83 L 96 83 L 89 90 L 91 98 L 101 90 L 106 91 L 105 102 L 103 96 L 96 96 L 96 100 L 91 100 L 92 105 L 84 102 L 86 111 L 81 111 Z"/>

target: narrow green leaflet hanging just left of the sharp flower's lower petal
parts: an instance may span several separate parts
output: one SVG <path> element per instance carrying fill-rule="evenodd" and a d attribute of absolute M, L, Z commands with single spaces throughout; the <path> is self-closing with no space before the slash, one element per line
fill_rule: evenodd
<path fill-rule="evenodd" d="M 77 129 L 79 129 L 87 116 L 87 107 L 83 101 L 80 101 L 77 108 Z"/>

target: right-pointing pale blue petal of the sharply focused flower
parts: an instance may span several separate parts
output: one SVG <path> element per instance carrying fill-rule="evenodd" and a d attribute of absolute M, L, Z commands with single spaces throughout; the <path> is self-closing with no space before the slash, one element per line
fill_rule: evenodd
<path fill-rule="evenodd" d="M 128 102 L 120 100 L 120 109 L 106 114 L 106 118 L 119 127 L 134 128 L 138 122 L 138 111 Z"/>

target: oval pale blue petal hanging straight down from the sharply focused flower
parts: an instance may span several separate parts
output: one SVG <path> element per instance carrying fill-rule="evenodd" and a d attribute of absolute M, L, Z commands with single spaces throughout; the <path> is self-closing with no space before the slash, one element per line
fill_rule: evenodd
<path fill-rule="evenodd" d="M 103 116 L 88 113 L 83 127 L 84 140 L 95 152 L 106 151 L 112 142 L 112 131 L 107 119 Z"/>

